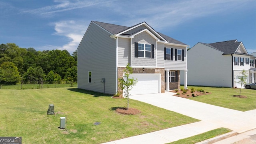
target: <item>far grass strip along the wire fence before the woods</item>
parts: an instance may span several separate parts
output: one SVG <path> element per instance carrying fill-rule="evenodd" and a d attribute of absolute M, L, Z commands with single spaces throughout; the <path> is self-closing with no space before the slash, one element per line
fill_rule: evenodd
<path fill-rule="evenodd" d="M 71 84 L 43 84 L 43 88 L 67 88 L 70 87 Z M 77 83 L 74 83 L 73 87 L 77 87 Z M 10 86 L 1 86 L 1 89 L 7 90 L 20 90 L 20 89 L 39 89 L 42 88 L 41 84 L 16 84 Z"/>

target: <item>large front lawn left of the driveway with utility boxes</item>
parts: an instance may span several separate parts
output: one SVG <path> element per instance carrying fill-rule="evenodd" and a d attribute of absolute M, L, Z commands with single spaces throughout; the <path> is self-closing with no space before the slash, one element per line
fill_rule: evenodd
<path fill-rule="evenodd" d="M 22 136 L 24 144 L 100 144 L 199 121 L 131 99 L 140 114 L 115 112 L 126 102 L 77 88 L 1 89 L 0 136 Z M 49 104 L 56 115 L 46 114 Z M 63 116 L 67 134 L 58 128 Z"/>

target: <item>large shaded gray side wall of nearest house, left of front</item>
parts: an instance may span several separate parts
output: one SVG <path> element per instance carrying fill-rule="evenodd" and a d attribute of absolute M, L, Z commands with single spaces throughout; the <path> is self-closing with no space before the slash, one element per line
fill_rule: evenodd
<path fill-rule="evenodd" d="M 88 71 L 92 82 L 88 83 Z M 104 92 L 116 92 L 116 40 L 93 22 L 88 27 L 78 47 L 78 88 Z"/>

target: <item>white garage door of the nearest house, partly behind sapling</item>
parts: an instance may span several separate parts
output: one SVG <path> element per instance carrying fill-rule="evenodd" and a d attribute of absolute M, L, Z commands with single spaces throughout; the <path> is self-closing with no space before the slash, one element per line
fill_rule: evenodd
<path fill-rule="evenodd" d="M 161 74 L 130 74 L 130 78 L 138 82 L 130 90 L 129 95 L 161 93 Z"/>

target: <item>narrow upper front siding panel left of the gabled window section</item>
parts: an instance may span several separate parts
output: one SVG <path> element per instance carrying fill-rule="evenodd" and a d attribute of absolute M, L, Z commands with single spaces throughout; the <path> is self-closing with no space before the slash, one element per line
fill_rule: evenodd
<path fill-rule="evenodd" d="M 131 39 L 118 38 L 118 66 L 131 63 Z"/>

